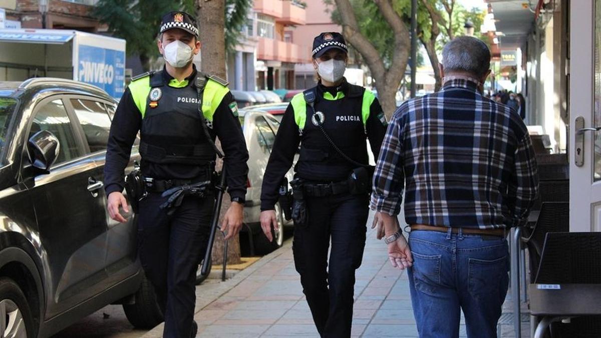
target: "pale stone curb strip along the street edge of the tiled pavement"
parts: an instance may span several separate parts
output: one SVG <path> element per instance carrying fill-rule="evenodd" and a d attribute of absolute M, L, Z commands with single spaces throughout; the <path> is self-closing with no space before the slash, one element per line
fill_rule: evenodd
<path fill-rule="evenodd" d="M 282 244 L 281 248 L 273 251 L 270 254 L 267 254 L 266 256 L 261 257 L 261 259 L 257 260 L 257 262 L 255 262 L 251 266 L 248 266 L 248 268 L 238 272 L 236 275 L 234 275 L 233 278 L 228 279 L 226 281 L 220 281 L 217 284 L 207 284 L 207 287 L 203 287 L 203 285 L 201 284 L 200 287 L 197 287 L 196 290 L 197 301 L 194 314 L 200 312 L 200 310 L 203 310 L 209 304 L 218 300 L 219 297 L 236 287 L 238 284 L 242 283 L 243 280 L 249 277 L 253 272 L 257 271 L 258 268 L 261 268 L 261 266 L 264 266 L 271 260 L 281 256 L 281 254 L 286 253 L 288 250 L 291 249 L 291 247 L 292 239 L 290 238 L 287 241 L 285 241 L 284 244 Z M 160 338 L 162 337 L 162 335 L 163 323 L 157 325 L 152 330 L 145 333 L 144 336 L 141 336 L 141 338 Z"/>

